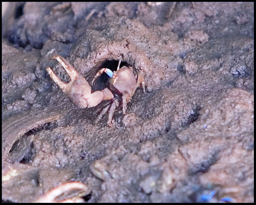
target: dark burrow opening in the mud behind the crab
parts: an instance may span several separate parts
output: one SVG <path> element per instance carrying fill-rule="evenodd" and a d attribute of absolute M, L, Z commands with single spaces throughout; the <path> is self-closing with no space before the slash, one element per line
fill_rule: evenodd
<path fill-rule="evenodd" d="M 120 64 L 120 68 L 122 68 L 122 66 L 131 66 L 130 64 L 128 64 L 127 62 L 122 61 Z M 111 71 L 116 71 L 118 67 L 118 60 L 105 60 L 103 62 L 101 62 L 99 65 L 95 66 L 93 68 L 91 76 L 90 76 L 90 83 L 92 82 L 94 76 L 96 75 L 96 73 L 101 69 L 101 68 L 108 68 Z M 92 86 L 92 92 L 97 91 L 97 90 L 102 90 L 106 87 L 108 87 L 108 80 L 110 79 L 110 77 L 106 74 L 103 73 L 102 75 L 100 75 L 95 82 L 91 85 Z"/>

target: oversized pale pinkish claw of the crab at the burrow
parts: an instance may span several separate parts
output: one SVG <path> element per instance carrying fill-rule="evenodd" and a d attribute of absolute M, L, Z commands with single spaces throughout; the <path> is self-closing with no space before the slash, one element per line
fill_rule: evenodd
<path fill-rule="evenodd" d="M 63 57 L 56 55 L 53 57 L 56 59 L 65 69 L 70 76 L 71 81 L 69 83 L 62 82 L 51 68 L 47 67 L 46 70 L 49 73 L 51 79 L 62 89 L 62 91 L 69 97 L 74 105 L 86 108 L 94 107 L 98 105 L 102 100 L 113 99 L 112 92 L 105 88 L 101 91 L 91 92 L 89 83 L 67 62 Z"/>

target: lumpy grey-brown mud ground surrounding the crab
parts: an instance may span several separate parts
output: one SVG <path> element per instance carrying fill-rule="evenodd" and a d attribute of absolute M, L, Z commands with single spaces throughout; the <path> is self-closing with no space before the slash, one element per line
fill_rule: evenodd
<path fill-rule="evenodd" d="M 2 32 L 2 202 L 254 202 L 253 2 L 13 2 Z M 108 127 L 54 55 L 89 83 L 121 59 L 146 93 Z"/>

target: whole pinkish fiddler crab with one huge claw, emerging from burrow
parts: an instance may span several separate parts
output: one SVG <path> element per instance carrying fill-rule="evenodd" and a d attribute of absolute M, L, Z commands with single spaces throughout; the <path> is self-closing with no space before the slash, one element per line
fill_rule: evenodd
<path fill-rule="evenodd" d="M 110 127 L 112 126 L 111 121 L 115 108 L 119 106 L 120 102 L 122 103 L 122 112 L 126 114 L 127 103 L 129 103 L 131 96 L 134 95 L 140 85 L 143 87 L 143 92 L 145 93 L 143 75 L 138 72 L 138 75 L 135 76 L 132 68 L 128 68 L 127 66 L 119 68 L 121 60 L 118 62 L 117 71 L 102 68 L 97 72 L 92 80 L 92 84 L 97 77 L 106 73 L 110 77 L 109 86 L 103 90 L 92 92 L 87 80 L 85 80 L 65 58 L 55 55 L 53 59 L 56 59 L 63 66 L 71 81 L 64 83 L 55 75 L 50 67 L 47 67 L 46 70 L 51 79 L 62 89 L 74 105 L 80 108 L 95 107 L 101 103 L 102 100 L 111 100 L 111 103 L 107 105 L 100 114 L 100 117 L 102 117 L 109 109 L 108 126 Z"/>

